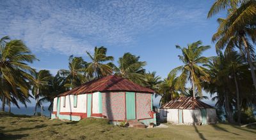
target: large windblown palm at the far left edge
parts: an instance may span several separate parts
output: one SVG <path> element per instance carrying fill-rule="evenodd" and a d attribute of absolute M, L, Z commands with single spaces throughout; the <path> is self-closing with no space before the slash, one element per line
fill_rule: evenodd
<path fill-rule="evenodd" d="M 12 92 L 0 91 L 2 111 L 4 111 L 6 98 L 11 99 L 10 94 L 20 97 L 18 94 L 22 93 L 25 97 L 29 97 L 28 82 L 34 80 L 32 75 L 35 74 L 35 69 L 27 64 L 36 60 L 35 55 L 31 54 L 22 41 L 9 41 L 9 39 L 8 36 L 0 39 L 0 80 L 2 83 L 0 89 L 4 88 L 4 81 L 12 87 Z"/>

